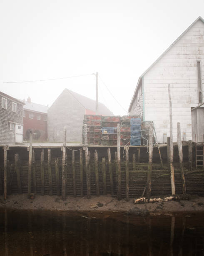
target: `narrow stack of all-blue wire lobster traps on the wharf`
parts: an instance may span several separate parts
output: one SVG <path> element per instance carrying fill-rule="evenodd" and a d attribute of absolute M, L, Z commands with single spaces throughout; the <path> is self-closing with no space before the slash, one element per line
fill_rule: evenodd
<path fill-rule="evenodd" d="M 141 117 L 131 117 L 130 119 L 130 127 L 131 127 L 131 138 L 130 145 L 131 146 L 140 146 L 141 145 Z"/>

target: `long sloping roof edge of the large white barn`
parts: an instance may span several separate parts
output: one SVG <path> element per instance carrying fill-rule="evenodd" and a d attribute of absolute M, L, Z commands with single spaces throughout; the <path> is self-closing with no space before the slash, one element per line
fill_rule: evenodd
<path fill-rule="evenodd" d="M 177 41 L 179 41 L 179 39 L 180 39 L 185 33 L 187 33 L 187 32 L 189 31 L 189 29 L 190 29 L 192 26 L 194 26 L 195 23 L 197 23 L 198 20 L 201 20 L 201 21 L 204 23 L 204 19 L 203 19 L 201 16 L 199 16 L 199 17 L 198 17 L 198 18 L 197 18 L 197 19 L 196 19 L 196 20 L 195 20 L 195 21 L 194 21 L 194 22 L 193 22 L 193 23 L 192 23 L 192 24 L 174 41 L 174 42 L 173 42 L 173 44 L 171 44 L 171 45 L 169 46 L 169 48 L 167 48 L 167 50 L 164 51 L 163 54 L 160 55 L 159 58 L 156 59 L 156 61 L 154 61 L 154 62 L 152 63 L 152 65 L 151 65 L 146 71 L 144 71 L 144 73 L 142 73 L 142 75 L 141 75 L 141 76 L 139 77 L 139 79 L 138 79 L 137 86 L 138 86 L 140 80 L 142 79 L 142 77 L 149 71 L 149 69 L 151 69 L 151 68 L 154 66 L 154 64 L 156 64 L 156 63 L 167 53 L 167 51 L 169 51 L 169 50 L 172 48 L 172 46 L 174 46 L 174 44 L 176 44 Z M 134 100 L 134 96 L 135 96 L 135 93 L 136 93 L 136 91 L 137 91 L 137 86 L 136 86 L 136 88 L 135 88 L 135 90 L 134 90 L 134 95 L 133 95 L 132 100 L 131 100 L 131 102 L 130 102 L 128 111 L 130 111 L 132 102 L 133 102 L 133 100 Z"/>

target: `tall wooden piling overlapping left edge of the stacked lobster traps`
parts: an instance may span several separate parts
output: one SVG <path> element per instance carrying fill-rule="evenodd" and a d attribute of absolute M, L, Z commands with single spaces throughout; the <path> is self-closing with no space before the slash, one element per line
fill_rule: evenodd
<path fill-rule="evenodd" d="M 87 179 L 87 198 L 91 198 L 91 180 L 90 180 L 90 168 L 89 168 L 89 151 L 88 151 L 88 139 L 87 139 L 87 124 L 84 125 L 84 138 L 85 138 L 85 166 L 86 166 L 86 179 Z"/>

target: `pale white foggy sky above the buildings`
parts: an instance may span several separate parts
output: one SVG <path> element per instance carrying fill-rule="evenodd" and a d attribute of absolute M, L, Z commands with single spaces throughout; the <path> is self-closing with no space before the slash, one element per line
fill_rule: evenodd
<path fill-rule="evenodd" d="M 0 84 L 18 99 L 52 105 L 65 89 L 95 99 L 100 77 L 128 110 L 139 76 L 198 16 L 203 0 L 1 0 Z M 99 79 L 99 100 L 127 114 Z"/>

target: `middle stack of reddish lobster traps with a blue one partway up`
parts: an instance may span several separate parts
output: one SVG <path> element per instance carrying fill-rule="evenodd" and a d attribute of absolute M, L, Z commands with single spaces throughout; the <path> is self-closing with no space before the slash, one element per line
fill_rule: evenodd
<path fill-rule="evenodd" d="M 117 145 L 117 123 L 120 116 L 104 116 L 102 118 L 101 144 L 104 146 Z"/>

